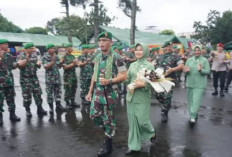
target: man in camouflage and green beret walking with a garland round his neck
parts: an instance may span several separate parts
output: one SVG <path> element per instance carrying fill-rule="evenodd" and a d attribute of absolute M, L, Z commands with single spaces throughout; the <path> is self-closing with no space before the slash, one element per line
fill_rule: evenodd
<path fill-rule="evenodd" d="M 117 90 L 114 88 L 117 88 L 119 82 L 126 80 L 126 67 L 122 58 L 111 49 L 110 32 L 99 34 L 98 44 L 101 53 L 95 58 L 94 74 L 86 99 L 92 99 L 90 118 L 105 132 L 105 143 L 98 152 L 98 156 L 102 157 L 112 151 L 112 137 L 115 134 L 114 108 L 117 102 Z"/>

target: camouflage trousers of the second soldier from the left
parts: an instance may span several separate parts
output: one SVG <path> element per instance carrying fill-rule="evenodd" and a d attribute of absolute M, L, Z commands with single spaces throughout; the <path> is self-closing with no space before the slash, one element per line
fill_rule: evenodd
<path fill-rule="evenodd" d="M 37 106 L 41 106 L 43 99 L 41 97 L 42 90 L 39 84 L 39 80 L 31 82 L 21 82 L 22 95 L 23 95 L 23 106 L 29 107 L 32 101 L 32 95 Z"/>

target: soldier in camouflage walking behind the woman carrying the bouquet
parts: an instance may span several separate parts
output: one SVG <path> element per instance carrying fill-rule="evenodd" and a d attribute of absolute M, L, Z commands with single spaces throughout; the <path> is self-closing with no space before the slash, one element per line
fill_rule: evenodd
<path fill-rule="evenodd" d="M 163 45 L 165 48 L 165 53 L 159 56 L 156 68 L 163 68 L 166 77 L 176 79 L 175 72 L 182 70 L 184 65 L 182 60 L 172 52 L 171 46 L 172 44 L 170 42 L 166 42 Z M 169 91 L 168 93 L 156 93 L 157 100 L 162 104 L 162 122 L 166 122 L 168 120 L 168 111 L 171 107 L 172 95 L 173 90 Z"/>

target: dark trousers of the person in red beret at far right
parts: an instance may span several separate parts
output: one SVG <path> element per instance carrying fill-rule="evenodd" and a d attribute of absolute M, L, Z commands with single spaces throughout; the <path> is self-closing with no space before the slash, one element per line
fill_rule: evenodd
<path fill-rule="evenodd" d="M 213 86 L 215 89 L 218 88 L 218 79 L 220 80 L 220 88 L 223 90 L 225 86 L 226 71 L 213 71 Z"/>

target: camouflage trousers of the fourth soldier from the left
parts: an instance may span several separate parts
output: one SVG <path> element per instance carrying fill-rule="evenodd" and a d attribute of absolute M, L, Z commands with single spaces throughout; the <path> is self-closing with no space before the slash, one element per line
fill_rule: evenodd
<path fill-rule="evenodd" d="M 77 91 L 77 81 L 72 81 L 71 83 L 64 83 L 64 100 L 74 101 Z"/>

